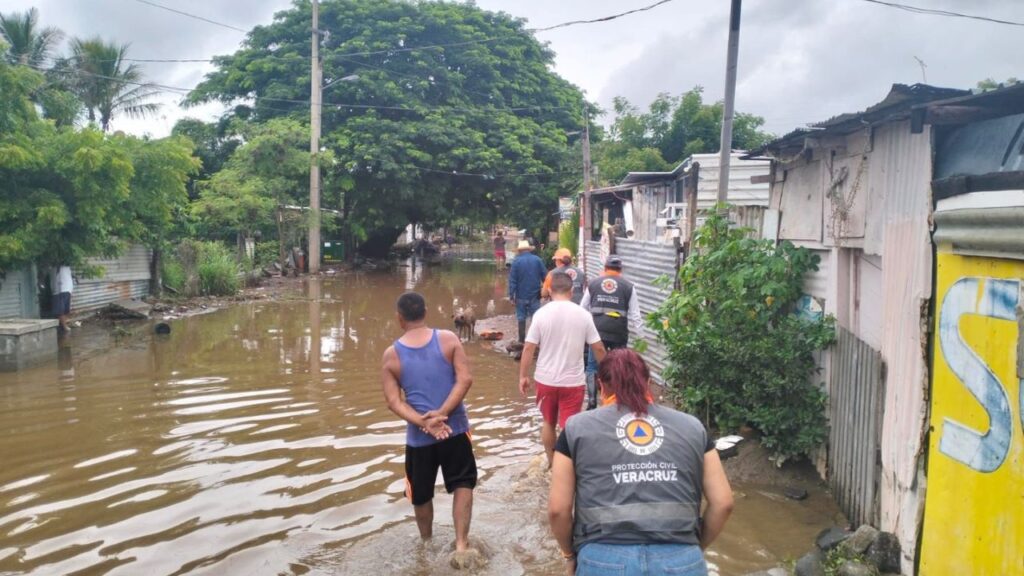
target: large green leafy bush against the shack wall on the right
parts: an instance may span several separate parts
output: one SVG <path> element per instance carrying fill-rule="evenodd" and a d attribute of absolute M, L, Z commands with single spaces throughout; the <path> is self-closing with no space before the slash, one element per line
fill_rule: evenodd
<path fill-rule="evenodd" d="M 818 257 L 749 232 L 710 216 L 679 272 L 680 289 L 648 324 L 669 349 L 664 376 L 674 399 L 709 425 L 753 425 L 781 463 L 825 439 L 825 396 L 811 378 L 835 322 L 794 314 Z"/>

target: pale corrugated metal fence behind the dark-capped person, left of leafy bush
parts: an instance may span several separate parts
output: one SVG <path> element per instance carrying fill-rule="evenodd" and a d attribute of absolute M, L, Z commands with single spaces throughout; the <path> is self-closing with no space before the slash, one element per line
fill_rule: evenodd
<path fill-rule="evenodd" d="M 604 264 L 601 260 L 601 244 L 587 242 L 584 250 L 587 257 L 587 277 L 597 278 Z M 636 286 L 640 298 L 640 314 L 646 321 L 647 315 L 657 310 L 672 292 L 671 284 L 668 289 L 656 287 L 654 284 L 655 280 L 663 276 L 675 278 L 676 247 L 671 244 L 616 238 L 615 255 L 623 260 L 623 276 Z M 643 354 L 644 360 L 647 361 L 654 379 L 662 382 L 662 370 L 668 361 L 668 351 L 646 325 L 639 329 L 631 327 L 630 342 L 636 343 L 640 340 L 647 343 L 647 349 Z"/>

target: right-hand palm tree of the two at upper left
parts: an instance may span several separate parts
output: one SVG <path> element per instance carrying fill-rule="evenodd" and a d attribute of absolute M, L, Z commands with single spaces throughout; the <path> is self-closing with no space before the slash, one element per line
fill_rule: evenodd
<path fill-rule="evenodd" d="M 103 131 L 110 129 L 115 113 L 142 118 L 160 109 L 159 104 L 147 101 L 160 90 L 143 80 L 138 66 L 125 60 L 128 44 L 109 43 L 99 37 L 75 38 L 71 51 L 76 92 L 89 121 L 98 120 Z"/>

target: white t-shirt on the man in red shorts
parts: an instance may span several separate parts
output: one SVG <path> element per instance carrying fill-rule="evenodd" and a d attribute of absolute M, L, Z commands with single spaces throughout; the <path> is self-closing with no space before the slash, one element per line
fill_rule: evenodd
<path fill-rule="evenodd" d="M 549 302 L 534 315 L 526 341 L 541 349 L 534 378 L 549 386 L 580 386 L 584 373 L 584 344 L 595 344 L 601 336 L 594 317 L 568 300 Z"/>

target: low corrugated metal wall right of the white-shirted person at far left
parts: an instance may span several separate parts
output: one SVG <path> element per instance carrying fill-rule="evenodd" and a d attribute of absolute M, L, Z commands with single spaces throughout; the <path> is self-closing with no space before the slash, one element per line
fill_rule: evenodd
<path fill-rule="evenodd" d="M 80 279 L 72 297 L 72 313 L 88 312 L 126 298 L 142 298 L 150 294 L 150 258 L 152 252 L 143 246 L 132 246 L 115 259 L 92 259 L 103 266 L 100 278 Z"/>

